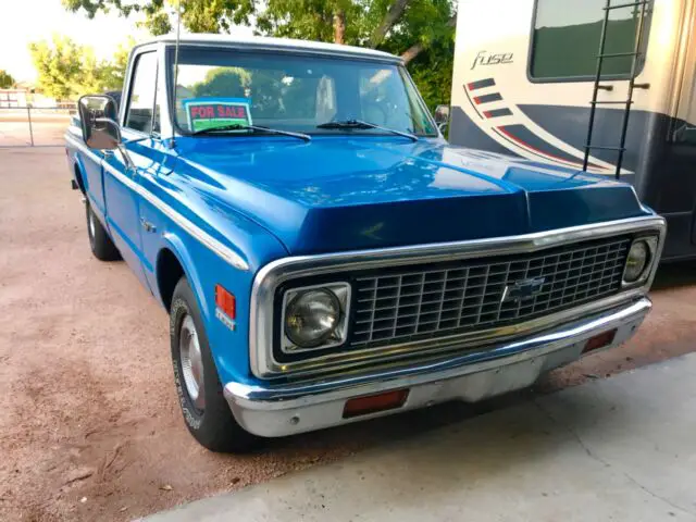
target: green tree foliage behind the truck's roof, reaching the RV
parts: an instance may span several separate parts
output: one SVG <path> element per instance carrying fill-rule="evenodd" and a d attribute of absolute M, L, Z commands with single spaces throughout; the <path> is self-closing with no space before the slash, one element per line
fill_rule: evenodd
<path fill-rule="evenodd" d="M 145 14 L 154 35 L 174 28 L 178 0 L 62 0 L 66 9 Z M 254 23 L 265 36 L 335 41 L 403 55 L 428 107 L 448 103 L 453 62 L 455 0 L 181 0 L 192 33 L 229 33 Z"/>

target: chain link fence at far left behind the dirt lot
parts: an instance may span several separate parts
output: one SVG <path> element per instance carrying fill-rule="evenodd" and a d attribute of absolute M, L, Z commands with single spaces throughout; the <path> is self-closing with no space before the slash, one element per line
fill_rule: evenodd
<path fill-rule="evenodd" d="M 59 147 L 76 114 L 74 102 L 55 107 L 0 107 L 0 148 Z"/>

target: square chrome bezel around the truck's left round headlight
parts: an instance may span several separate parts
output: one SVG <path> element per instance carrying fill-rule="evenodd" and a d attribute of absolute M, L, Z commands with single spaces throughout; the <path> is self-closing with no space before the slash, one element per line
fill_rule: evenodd
<path fill-rule="evenodd" d="M 312 346 L 299 346 L 294 343 L 286 333 L 285 322 L 287 318 L 287 311 L 289 304 L 297 299 L 300 295 L 315 291 L 326 290 L 331 293 L 338 301 L 339 316 L 338 322 L 333 330 L 332 334 L 327 338 L 323 339 L 316 345 Z M 336 348 L 346 344 L 348 339 L 348 318 L 350 314 L 350 299 L 351 299 L 351 285 L 347 282 L 332 282 L 316 285 L 307 285 L 286 288 L 283 293 L 283 299 L 281 304 L 281 353 L 285 356 L 294 356 L 304 352 L 319 352 L 328 348 Z M 334 335 L 335 334 L 335 335 Z"/>

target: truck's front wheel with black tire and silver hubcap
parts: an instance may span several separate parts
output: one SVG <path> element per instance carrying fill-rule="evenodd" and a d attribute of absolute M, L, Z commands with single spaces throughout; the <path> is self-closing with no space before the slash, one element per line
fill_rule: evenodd
<path fill-rule="evenodd" d="M 223 396 L 198 303 L 186 277 L 174 289 L 170 310 L 174 383 L 186 427 L 211 451 L 246 452 L 262 438 L 235 421 Z"/>

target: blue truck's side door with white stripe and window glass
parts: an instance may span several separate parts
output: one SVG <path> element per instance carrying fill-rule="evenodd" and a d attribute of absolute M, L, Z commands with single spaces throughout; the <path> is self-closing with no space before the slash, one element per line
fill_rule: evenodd
<path fill-rule="evenodd" d="M 147 286 L 142 266 L 139 206 L 140 172 L 150 169 L 152 121 L 154 113 L 157 53 L 147 51 L 133 61 L 125 111 L 122 113 L 122 135 L 135 167 L 127 166 L 120 151 L 104 158 L 104 197 L 108 223 L 119 250 L 138 278 Z"/>

